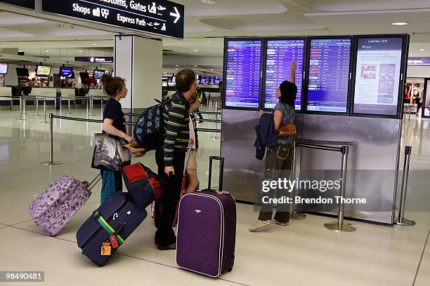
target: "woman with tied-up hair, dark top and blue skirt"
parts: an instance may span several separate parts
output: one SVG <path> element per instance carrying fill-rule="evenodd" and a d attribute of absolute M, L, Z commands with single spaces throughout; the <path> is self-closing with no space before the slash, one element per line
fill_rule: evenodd
<path fill-rule="evenodd" d="M 125 80 L 119 76 L 112 77 L 110 74 L 104 74 L 101 79 L 103 83 L 103 91 L 106 95 L 110 95 L 110 99 L 103 110 L 103 125 L 102 130 L 111 137 L 131 143 L 133 138 L 126 135 L 126 125 L 124 112 L 122 112 L 121 103 L 119 100 L 127 95 Z M 124 162 L 124 165 L 129 165 L 130 162 Z M 100 202 L 103 204 L 117 191 L 122 191 L 122 172 L 101 170 L 102 190 Z"/>

